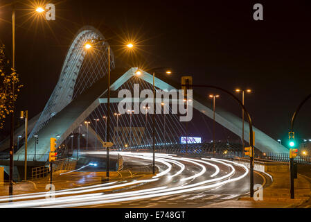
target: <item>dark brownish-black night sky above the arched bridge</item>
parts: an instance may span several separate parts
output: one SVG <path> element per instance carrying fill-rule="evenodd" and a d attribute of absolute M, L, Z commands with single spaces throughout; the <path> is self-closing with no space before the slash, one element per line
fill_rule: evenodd
<path fill-rule="evenodd" d="M 0 1 L 0 40 L 10 56 L 11 1 Z M 245 104 L 254 125 L 274 139 L 286 139 L 290 117 L 311 93 L 311 1 L 46 1 L 55 3 L 56 20 L 31 17 L 33 2 L 17 4 L 17 71 L 25 85 L 17 110 L 40 112 L 55 87 L 66 51 L 85 25 L 98 28 L 116 57 L 122 39 L 139 42 L 143 60 L 128 67 L 172 67 L 174 75 L 192 75 L 194 83 L 232 92 L 251 88 Z M 263 4 L 263 21 L 253 6 Z M 118 60 L 116 62 L 118 64 Z M 124 64 L 123 64 L 124 65 Z M 202 95 L 215 91 L 196 89 Z M 220 94 L 217 105 L 240 116 L 240 108 Z M 311 139 L 311 101 L 296 119 L 295 131 Z M 2 131 L 3 134 L 7 130 Z M 1 133 L 1 134 L 2 134 Z"/>

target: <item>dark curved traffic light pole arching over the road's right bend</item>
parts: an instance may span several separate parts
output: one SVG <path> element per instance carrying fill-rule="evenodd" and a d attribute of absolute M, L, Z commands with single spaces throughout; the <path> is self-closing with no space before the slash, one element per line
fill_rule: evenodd
<path fill-rule="evenodd" d="M 249 121 L 249 144 L 251 146 L 252 151 L 254 152 L 254 134 L 253 134 L 253 124 L 251 122 L 251 116 L 249 115 L 249 112 L 247 112 L 245 106 L 242 104 L 242 102 L 231 92 L 227 91 L 226 89 L 222 89 L 221 87 L 213 86 L 213 85 L 181 85 L 183 87 L 206 87 L 206 88 L 213 88 L 213 89 L 218 89 L 222 92 L 225 92 L 226 94 L 229 94 L 234 100 L 236 100 L 239 105 L 242 107 L 244 110 L 247 120 Z M 250 178 L 250 196 L 251 198 L 254 197 L 254 157 L 250 157 L 250 162 L 249 162 L 249 178 Z"/>

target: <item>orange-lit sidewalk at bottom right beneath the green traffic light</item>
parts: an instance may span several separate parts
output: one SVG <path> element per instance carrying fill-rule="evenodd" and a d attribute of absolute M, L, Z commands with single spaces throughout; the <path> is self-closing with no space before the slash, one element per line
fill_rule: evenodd
<path fill-rule="evenodd" d="M 290 198 L 289 173 L 269 173 L 273 177 L 272 185 L 263 189 L 263 200 L 254 200 L 249 196 L 239 200 L 227 200 L 222 203 L 206 205 L 203 208 L 294 208 L 311 198 L 311 183 L 298 175 L 294 180 L 295 198 Z"/>

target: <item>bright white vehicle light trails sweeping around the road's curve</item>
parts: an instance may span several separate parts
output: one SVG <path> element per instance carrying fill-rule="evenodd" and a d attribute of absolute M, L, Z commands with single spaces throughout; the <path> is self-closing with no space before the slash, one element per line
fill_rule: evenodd
<path fill-rule="evenodd" d="M 119 153 L 119 152 L 116 152 Z M 98 154 L 98 153 L 96 153 Z M 129 157 L 138 157 L 144 160 L 152 160 L 150 155 L 152 153 L 121 153 L 122 155 L 126 155 Z M 220 169 L 217 165 L 211 164 L 210 162 L 207 161 L 212 161 L 212 162 L 217 162 L 219 164 L 223 164 L 226 167 L 229 167 L 231 171 L 224 175 L 220 176 L 217 178 L 213 178 L 217 176 L 220 173 Z M 185 169 L 185 165 L 182 164 L 182 162 L 188 162 L 191 164 L 195 164 L 199 167 L 202 168 L 199 173 L 195 173 L 195 175 L 190 176 L 188 178 L 181 178 L 180 181 L 184 182 L 186 179 L 194 179 L 199 176 L 202 176 L 204 173 L 206 173 L 206 167 L 203 164 L 206 164 L 208 166 L 214 167 L 215 168 L 215 173 L 213 173 L 210 177 L 213 179 L 209 180 L 204 180 L 201 182 L 196 182 L 190 185 L 179 185 L 177 187 L 155 187 L 152 189 L 141 189 L 139 191 L 125 191 L 125 192 L 119 192 L 116 194 L 103 194 L 103 193 L 96 193 L 94 195 L 92 194 L 85 194 L 85 195 L 75 195 L 75 196 L 64 196 L 64 197 L 57 197 L 55 200 L 24 200 L 24 201 L 19 201 L 17 203 L 3 203 L 0 204 L 0 207 L 81 207 L 81 206 L 86 206 L 86 205 L 101 205 L 105 203 L 116 203 L 116 202 L 123 202 L 123 201 L 128 201 L 128 200 L 139 200 L 139 199 L 144 199 L 144 198 L 154 198 L 157 196 L 167 196 L 167 195 L 172 195 L 172 194 L 182 194 L 182 193 L 187 193 L 191 191 L 197 191 L 197 190 L 202 190 L 202 189 L 211 189 L 215 188 L 217 189 L 218 187 L 221 187 L 222 185 L 225 185 L 229 182 L 237 181 L 245 176 L 247 176 L 249 170 L 247 167 L 245 167 L 242 164 L 238 164 L 236 162 L 231 162 L 229 160 L 220 160 L 220 159 L 206 159 L 202 158 L 202 160 L 197 160 L 197 159 L 192 159 L 192 158 L 185 158 L 185 157 L 173 157 L 172 155 L 167 155 L 167 154 L 157 154 L 156 155 L 156 161 L 160 162 L 161 164 L 166 165 L 168 167 L 166 170 L 162 171 L 161 173 L 158 173 L 156 176 L 157 178 L 154 178 L 152 180 L 137 180 L 133 182 L 127 182 L 123 183 L 121 185 L 112 185 L 112 186 L 107 186 L 106 187 L 101 187 L 102 185 L 95 185 L 98 187 L 94 186 L 89 186 L 89 187 L 80 187 L 80 188 L 73 188 L 73 189 L 67 189 L 67 190 L 62 190 L 62 191 L 57 191 L 55 192 L 55 196 L 61 196 L 61 195 L 72 195 L 72 194 L 80 194 L 80 193 L 87 193 L 87 192 L 92 192 L 92 191 L 101 191 L 105 189 L 112 189 L 112 188 L 118 188 L 118 187 L 124 187 L 125 185 L 130 186 L 130 185 L 135 185 L 143 182 L 152 182 L 159 180 L 161 177 L 165 176 L 172 170 L 172 164 L 176 164 L 180 170 L 177 171 L 177 173 L 168 176 L 169 178 L 175 177 L 180 175 L 182 171 Z M 170 162 L 170 163 L 169 163 Z M 200 164 L 202 163 L 202 164 Z M 242 174 L 242 176 L 238 176 L 237 178 L 231 178 L 235 173 L 236 170 L 234 169 L 233 165 L 236 165 L 238 167 L 242 167 L 245 169 L 245 173 Z M 208 185 L 209 184 L 209 185 Z M 44 193 L 44 196 L 46 196 L 46 193 Z M 24 194 L 23 194 L 24 195 Z M 89 195 L 89 196 L 88 196 Z M 28 199 L 28 198 L 38 198 L 42 197 L 42 194 L 39 195 L 33 195 L 33 196 L 14 196 L 15 200 L 21 200 L 20 198 Z M 19 199 L 17 199 L 19 198 Z M 4 199 L 0 199 L 0 201 L 3 201 Z M 8 199 L 7 199 L 8 200 Z"/>

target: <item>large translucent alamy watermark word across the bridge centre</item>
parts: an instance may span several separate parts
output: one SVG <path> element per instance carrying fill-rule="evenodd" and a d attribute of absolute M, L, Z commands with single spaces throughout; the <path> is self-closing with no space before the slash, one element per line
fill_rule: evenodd
<path fill-rule="evenodd" d="M 122 99 L 118 103 L 118 112 L 125 114 L 132 111 L 133 114 L 153 114 L 154 104 L 155 113 L 168 114 L 171 110 L 172 114 L 181 114 L 179 121 L 191 121 L 193 118 L 193 90 L 188 89 L 186 96 L 184 89 L 156 90 L 155 103 L 152 89 L 139 90 L 139 84 L 134 84 L 133 94 L 129 89 L 121 89 L 118 92 L 118 99 Z M 148 109 L 146 109 L 148 107 Z"/>

